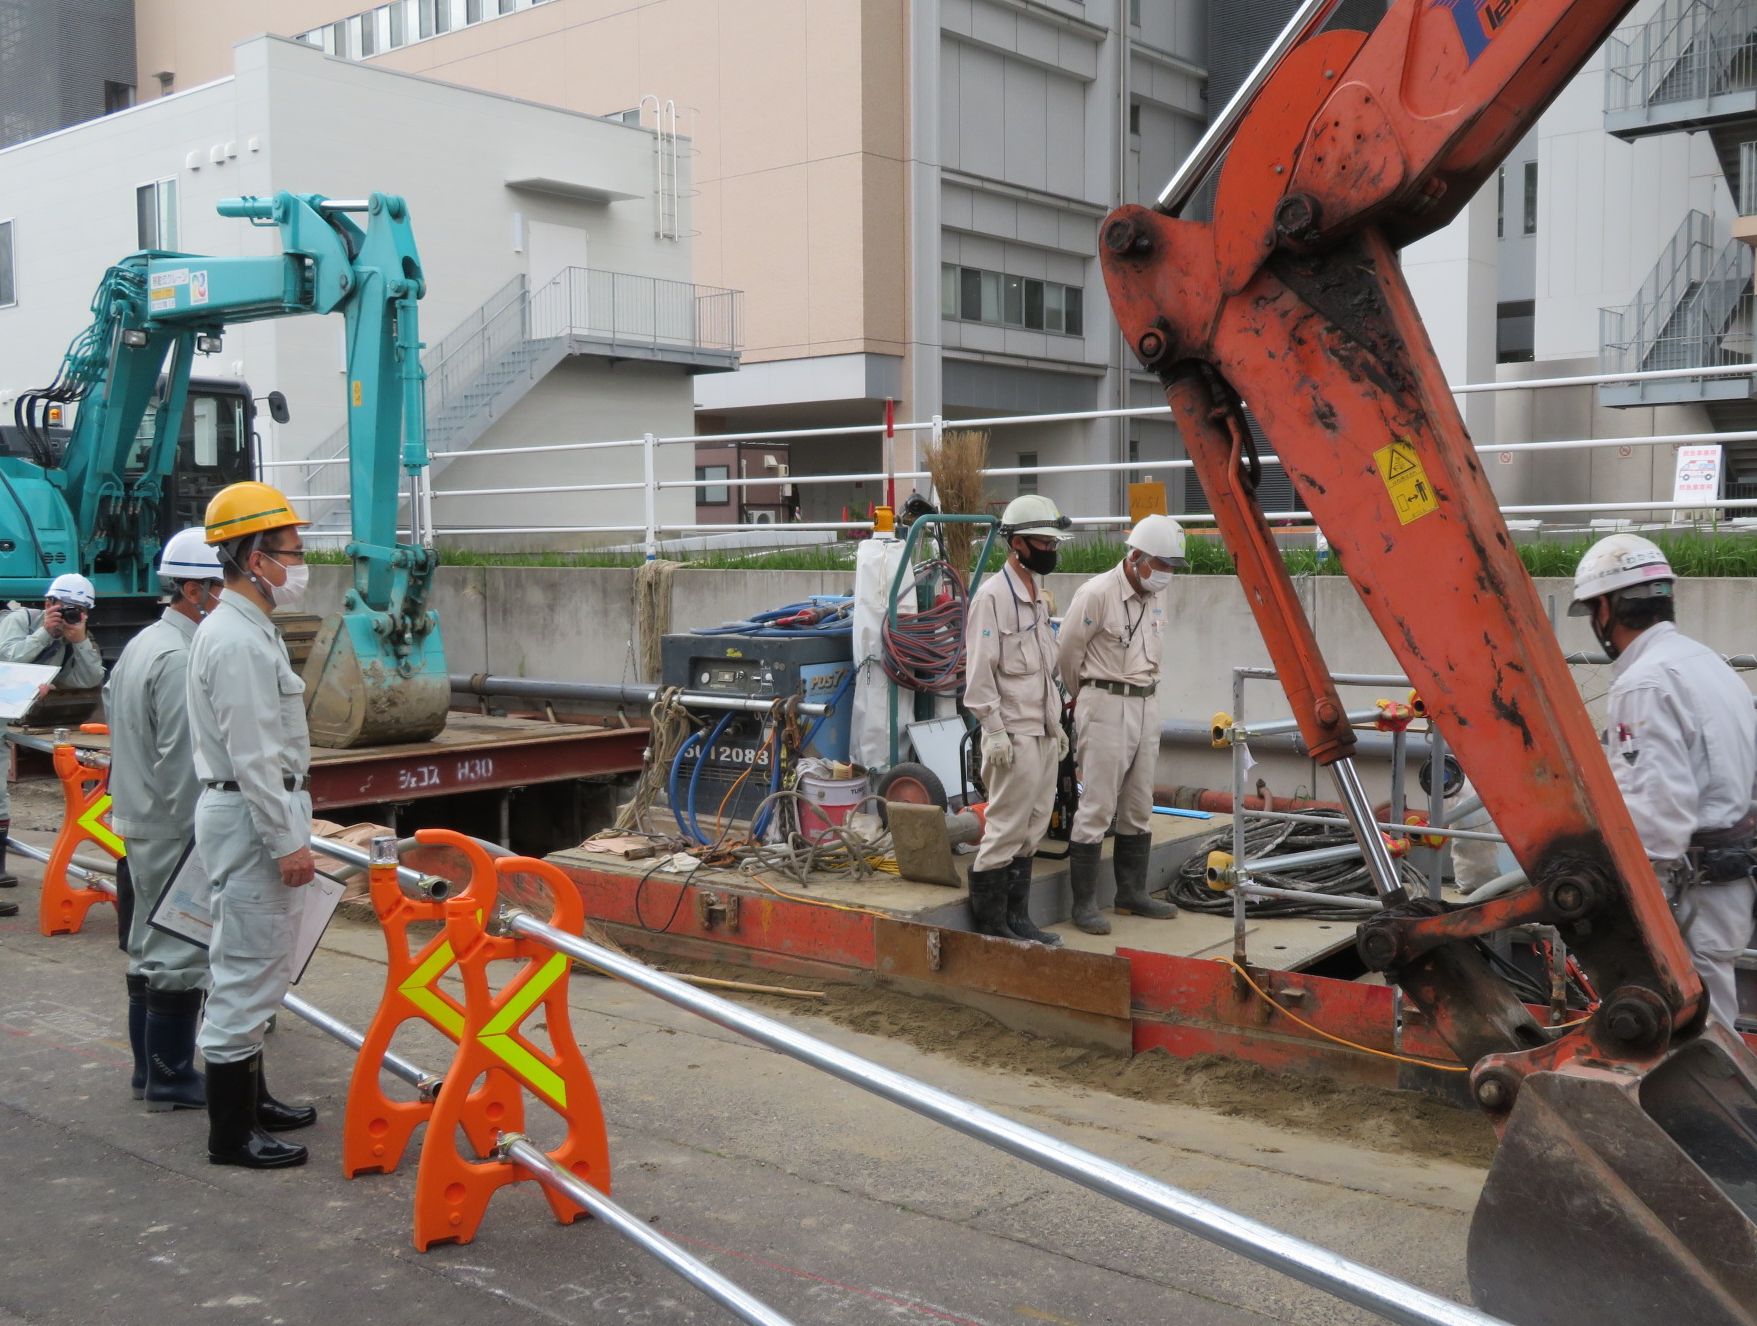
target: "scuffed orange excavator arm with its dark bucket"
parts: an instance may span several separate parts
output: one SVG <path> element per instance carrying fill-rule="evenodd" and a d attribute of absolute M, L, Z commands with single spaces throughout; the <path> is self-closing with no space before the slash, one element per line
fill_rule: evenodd
<path fill-rule="evenodd" d="M 1334 7 L 1307 4 L 1223 118 L 1212 223 L 1107 218 L 1110 300 L 1167 386 L 1344 803 L 1363 811 L 1355 741 L 1256 501 L 1246 400 L 1532 882 L 1448 906 L 1407 897 L 1383 861 L 1386 908 L 1358 936 L 1474 1066 L 1502 1131 L 1471 1238 L 1479 1305 L 1522 1322 L 1748 1326 L 1757 1061 L 1704 1026 L 1701 982 L 1397 263 L 1630 4 L 1397 0 L 1370 35 L 1311 35 Z M 1188 184 L 1174 181 L 1174 204 Z M 1564 927 L 1606 992 L 1578 1027 L 1539 1026 L 1481 954 L 1481 936 L 1532 922 Z"/>

